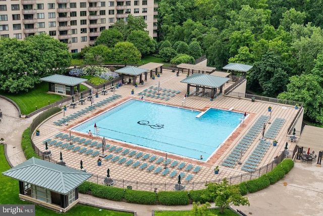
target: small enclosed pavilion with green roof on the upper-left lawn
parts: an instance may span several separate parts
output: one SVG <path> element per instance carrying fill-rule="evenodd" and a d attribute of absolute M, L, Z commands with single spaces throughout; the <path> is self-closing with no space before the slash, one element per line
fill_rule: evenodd
<path fill-rule="evenodd" d="M 40 78 L 41 81 L 48 82 L 49 92 L 55 92 L 64 95 L 74 95 L 74 87 L 80 92 L 80 83 L 86 82 L 87 79 L 53 74 Z"/>

